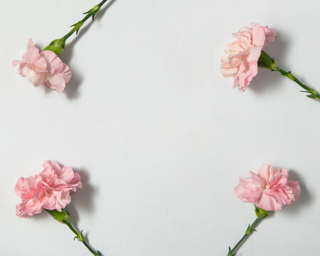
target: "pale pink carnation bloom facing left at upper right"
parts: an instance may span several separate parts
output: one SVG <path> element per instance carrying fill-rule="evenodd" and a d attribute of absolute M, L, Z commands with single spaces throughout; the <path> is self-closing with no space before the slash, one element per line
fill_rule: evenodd
<path fill-rule="evenodd" d="M 243 27 L 233 36 L 237 39 L 225 48 L 220 61 L 220 71 L 225 78 L 234 78 L 233 87 L 244 91 L 257 75 L 257 60 L 267 43 L 274 41 L 276 32 L 267 26 L 251 23 L 252 28 Z"/>

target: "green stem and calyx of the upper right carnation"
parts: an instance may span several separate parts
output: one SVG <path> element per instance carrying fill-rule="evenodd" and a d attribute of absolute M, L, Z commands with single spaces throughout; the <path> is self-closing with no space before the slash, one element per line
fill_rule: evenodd
<path fill-rule="evenodd" d="M 309 86 L 304 85 L 304 83 L 299 81 L 294 75 L 292 75 L 292 73 L 290 71 L 287 72 L 287 71 L 284 71 L 281 68 L 279 68 L 277 60 L 275 60 L 270 55 L 268 55 L 264 50 L 261 51 L 261 55 L 260 55 L 260 58 L 257 63 L 258 63 L 259 68 L 267 68 L 268 70 L 271 70 L 271 71 L 278 71 L 283 76 L 289 78 L 290 80 L 292 80 L 294 82 L 297 82 L 298 85 L 300 85 L 302 88 L 304 88 L 304 91 L 302 91 L 302 92 L 309 93 L 309 95 L 306 95 L 306 97 L 309 97 L 309 98 L 315 99 L 315 100 L 320 100 L 320 95 L 316 90 L 310 88 Z"/>

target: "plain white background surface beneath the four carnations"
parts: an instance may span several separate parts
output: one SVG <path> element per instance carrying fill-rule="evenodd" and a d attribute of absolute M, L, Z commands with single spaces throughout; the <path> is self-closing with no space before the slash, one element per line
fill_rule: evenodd
<path fill-rule="evenodd" d="M 232 90 L 218 63 L 231 33 L 255 21 L 276 29 L 266 51 L 281 68 L 320 90 L 319 1 L 116 0 L 67 42 L 65 92 L 17 75 L 28 38 L 46 47 L 95 4 L 0 1 L 1 255 L 90 255 L 46 213 L 15 216 L 17 179 L 46 159 L 80 171 L 68 210 L 107 256 L 227 255 L 255 219 L 233 191 L 239 176 L 287 167 L 300 200 L 238 255 L 314 255 L 320 104 L 267 70 Z"/>

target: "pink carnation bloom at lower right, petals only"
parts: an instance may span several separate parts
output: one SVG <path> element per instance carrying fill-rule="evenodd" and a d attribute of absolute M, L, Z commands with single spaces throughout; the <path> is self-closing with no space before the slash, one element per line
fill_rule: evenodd
<path fill-rule="evenodd" d="M 250 171 L 252 178 L 240 178 L 235 193 L 245 203 L 255 203 L 264 210 L 280 210 L 299 199 L 301 188 L 298 181 L 288 181 L 287 169 L 270 164 L 260 167 L 258 174 Z"/>

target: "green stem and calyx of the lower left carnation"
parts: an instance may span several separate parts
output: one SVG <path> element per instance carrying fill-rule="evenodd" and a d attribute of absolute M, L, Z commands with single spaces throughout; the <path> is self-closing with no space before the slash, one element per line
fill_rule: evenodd
<path fill-rule="evenodd" d="M 98 250 L 95 251 L 90 247 L 90 245 L 85 241 L 85 238 L 82 235 L 82 231 L 79 233 L 78 230 L 73 228 L 73 225 L 71 224 L 70 220 L 70 214 L 68 213 L 68 210 L 62 209 L 60 212 L 58 210 L 47 210 L 45 209 L 47 213 L 49 213 L 55 220 L 58 220 L 58 222 L 63 223 L 65 225 L 68 225 L 70 230 L 75 234 L 75 238 L 77 238 L 80 242 L 87 247 L 87 250 L 89 250 L 92 255 L 95 256 L 102 256 L 102 253 Z"/>

